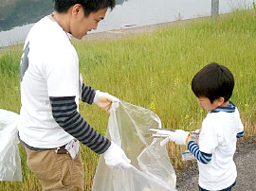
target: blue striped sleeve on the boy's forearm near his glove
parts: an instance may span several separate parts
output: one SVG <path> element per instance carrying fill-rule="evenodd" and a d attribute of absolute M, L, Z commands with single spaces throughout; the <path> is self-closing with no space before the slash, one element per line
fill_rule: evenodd
<path fill-rule="evenodd" d="M 212 154 L 200 151 L 199 146 L 194 141 L 189 142 L 188 149 L 192 152 L 194 157 L 202 164 L 208 164 L 210 162 Z"/>

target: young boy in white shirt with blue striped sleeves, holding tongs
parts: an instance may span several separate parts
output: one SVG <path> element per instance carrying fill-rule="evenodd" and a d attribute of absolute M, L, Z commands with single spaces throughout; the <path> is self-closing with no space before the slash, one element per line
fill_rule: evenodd
<path fill-rule="evenodd" d="M 192 91 L 198 104 L 209 111 L 200 129 L 198 145 L 190 133 L 175 130 L 169 140 L 188 145 L 198 162 L 199 191 L 229 191 L 235 185 L 237 171 L 233 161 L 236 138 L 244 136 L 244 126 L 235 105 L 229 101 L 234 78 L 218 63 L 203 67 L 192 78 Z"/>

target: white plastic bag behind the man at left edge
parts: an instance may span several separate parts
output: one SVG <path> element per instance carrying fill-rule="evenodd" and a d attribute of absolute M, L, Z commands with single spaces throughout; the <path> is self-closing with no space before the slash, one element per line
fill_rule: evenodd
<path fill-rule="evenodd" d="M 18 120 L 19 114 L 0 109 L 0 181 L 22 182 Z"/>

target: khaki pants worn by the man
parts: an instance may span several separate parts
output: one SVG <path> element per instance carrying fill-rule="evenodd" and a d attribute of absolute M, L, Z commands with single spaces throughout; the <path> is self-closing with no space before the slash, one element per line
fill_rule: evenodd
<path fill-rule="evenodd" d="M 72 160 L 69 154 L 57 154 L 55 149 L 31 150 L 24 146 L 27 165 L 41 180 L 43 191 L 82 191 L 84 172 L 81 151 Z"/>

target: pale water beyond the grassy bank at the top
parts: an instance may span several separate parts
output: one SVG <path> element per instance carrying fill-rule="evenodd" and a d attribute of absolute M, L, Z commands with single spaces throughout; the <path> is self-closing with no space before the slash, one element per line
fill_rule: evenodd
<path fill-rule="evenodd" d="M 219 0 L 219 13 L 252 8 L 253 0 Z M 0 0 L 0 47 L 24 43 L 35 22 L 52 12 L 52 0 Z M 149 26 L 176 20 L 210 16 L 211 0 L 117 0 L 98 30 Z"/>

